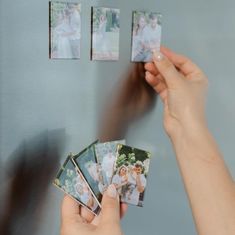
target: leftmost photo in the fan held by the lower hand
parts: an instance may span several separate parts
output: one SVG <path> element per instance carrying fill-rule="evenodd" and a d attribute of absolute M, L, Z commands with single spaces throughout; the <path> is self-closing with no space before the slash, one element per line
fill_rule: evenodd
<path fill-rule="evenodd" d="M 100 206 L 93 197 L 87 183 L 76 171 L 70 156 L 67 157 L 53 183 L 92 213 L 96 215 L 99 213 Z"/>

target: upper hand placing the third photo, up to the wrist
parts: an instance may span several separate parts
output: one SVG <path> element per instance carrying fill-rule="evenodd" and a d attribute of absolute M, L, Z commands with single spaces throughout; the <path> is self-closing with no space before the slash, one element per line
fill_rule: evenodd
<path fill-rule="evenodd" d="M 207 78 L 188 58 L 161 47 L 145 64 L 146 81 L 164 102 L 164 126 L 171 138 L 205 126 Z"/>

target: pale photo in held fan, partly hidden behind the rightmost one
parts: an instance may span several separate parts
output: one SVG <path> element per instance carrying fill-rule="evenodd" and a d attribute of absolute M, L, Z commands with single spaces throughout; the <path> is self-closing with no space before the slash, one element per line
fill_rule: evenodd
<path fill-rule="evenodd" d="M 99 143 L 95 145 L 96 158 L 101 173 L 100 179 L 105 189 L 111 184 L 118 144 L 125 144 L 125 140 Z"/>

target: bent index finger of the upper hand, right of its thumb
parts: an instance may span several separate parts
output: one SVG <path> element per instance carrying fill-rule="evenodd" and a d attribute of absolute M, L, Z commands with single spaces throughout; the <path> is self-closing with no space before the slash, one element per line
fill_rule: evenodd
<path fill-rule="evenodd" d="M 200 68 L 187 57 L 176 54 L 172 50 L 161 47 L 161 52 L 178 68 L 185 76 L 202 73 Z"/>

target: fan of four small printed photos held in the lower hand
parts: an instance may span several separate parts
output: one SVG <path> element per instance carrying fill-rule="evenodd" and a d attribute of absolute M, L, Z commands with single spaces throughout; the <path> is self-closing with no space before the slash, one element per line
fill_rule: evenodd
<path fill-rule="evenodd" d="M 67 157 L 54 185 L 95 215 L 110 184 L 115 185 L 121 202 L 142 207 L 149 163 L 149 152 L 127 146 L 125 140 L 96 141 Z"/>

